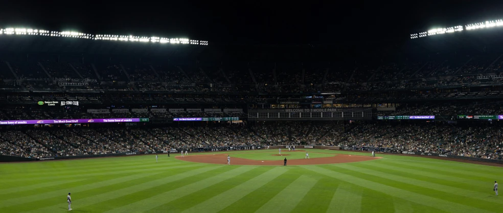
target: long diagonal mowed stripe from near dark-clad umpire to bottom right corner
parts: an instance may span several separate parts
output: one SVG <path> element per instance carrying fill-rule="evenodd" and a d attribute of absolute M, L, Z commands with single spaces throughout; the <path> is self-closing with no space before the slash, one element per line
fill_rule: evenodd
<path fill-rule="evenodd" d="M 381 183 L 376 183 L 376 182 L 365 180 L 365 179 L 362 179 L 359 177 L 335 172 L 333 170 L 330 170 L 327 168 L 322 168 L 319 166 L 302 166 L 302 167 L 304 167 L 310 171 L 322 174 L 322 175 L 326 175 L 326 176 L 329 176 L 329 177 L 332 177 L 335 179 L 339 179 L 341 181 L 345 181 L 345 182 L 352 183 L 352 184 L 355 184 L 358 186 L 377 190 L 377 191 L 380 191 L 381 193 L 389 195 L 389 196 L 400 197 L 404 200 L 419 203 L 419 204 L 422 204 L 425 206 L 430 206 L 433 208 L 448 209 L 449 212 L 453 212 L 453 213 L 493 212 L 493 211 L 488 211 L 488 210 L 484 210 L 484 209 L 480 209 L 480 208 L 475 208 L 472 206 L 462 205 L 459 203 L 454 203 L 454 202 L 450 202 L 450 201 L 445 201 L 445 200 L 417 194 L 417 193 L 414 193 L 414 192 L 411 192 L 411 191 L 408 191 L 405 189 L 396 188 L 396 187 L 388 186 L 388 185 L 381 184 Z"/>

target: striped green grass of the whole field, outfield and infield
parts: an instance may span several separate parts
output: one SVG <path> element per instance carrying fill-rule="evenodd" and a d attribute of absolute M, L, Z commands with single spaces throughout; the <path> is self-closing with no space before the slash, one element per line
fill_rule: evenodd
<path fill-rule="evenodd" d="M 271 150 L 228 154 L 283 159 Z M 370 155 L 309 150 L 311 158 L 336 154 Z M 378 156 L 303 166 L 204 164 L 173 155 L 159 155 L 158 163 L 148 155 L 0 164 L 0 212 L 65 212 L 68 193 L 78 212 L 503 211 L 492 190 L 502 167 Z"/>

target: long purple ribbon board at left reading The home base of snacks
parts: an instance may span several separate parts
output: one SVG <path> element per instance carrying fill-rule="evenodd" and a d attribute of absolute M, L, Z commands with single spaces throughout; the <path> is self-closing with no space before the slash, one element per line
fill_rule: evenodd
<path fill-rule="evenodd" d="M 58 123 L 113 123 L 140 122 L 140 118 L 93 118 L 93 119 L 53 119 L 53 120 L 0 120 L 0 125 L 58 124 Z"/>

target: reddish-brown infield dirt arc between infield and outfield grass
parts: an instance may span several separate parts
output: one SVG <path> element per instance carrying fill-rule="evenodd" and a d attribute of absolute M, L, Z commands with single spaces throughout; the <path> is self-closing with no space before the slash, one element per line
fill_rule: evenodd
<path fill-rule="evenodd" d="M 323 158 L 311 158 L 311 159 L 291 159 L 288 160 L 287 165 L 314 165 L 314 164 L 331 164 L 331 163 L 351 163 L 367 160 L 375 160 L 380 157 L 369 157 L 369 156 L 359 156 L 359 155 L 336 155 L 332 157 Z M 215 154 L 215 155 L 191 155 L 191 156 L 176 156 L 178 160 L 185 160 L 197 163 L 214 163 L 214 164 L 227 164 L 226 154 Z M 232 165 L 277 165 L 282 166 L 283 160 L 251 160 L 244 158 L 232 158 Z"/>

